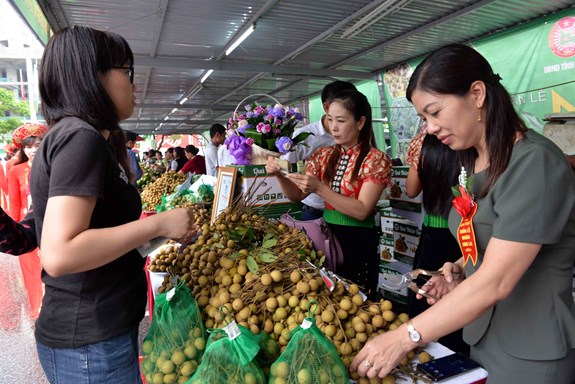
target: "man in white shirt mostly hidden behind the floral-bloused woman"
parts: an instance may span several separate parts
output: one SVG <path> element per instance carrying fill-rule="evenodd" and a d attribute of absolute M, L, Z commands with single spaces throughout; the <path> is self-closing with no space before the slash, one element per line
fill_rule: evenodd
<path fill-rule="evenodd" d="M 353 89 L 355 86 L 347 81 L 334 81 L 326 85 L 321 92 L 321 102 L 323 110 L 327 113 L 329 104 L 328 101 L 338 92 Z M 324 114 L 320 121 L 313 122 L 294 131 L 293 137 L 296 137 L 300 132 L 310 132 L 304 141 L 305 145 L 296 145 L 292 152 L 288 152 L 281 158 L 289 161 L 290 163 L 297 163 L 299 160 L 307 160 L 318 148 L 334 145 L 335 141 L 329 131 L 327 124 L 327 117 Z M 325 207 L 324 201 L 315 193 L 310 193 L 308 197 L 302 200 L 302 219 L 314 220 L 323 216 L 323 209 Z"/>

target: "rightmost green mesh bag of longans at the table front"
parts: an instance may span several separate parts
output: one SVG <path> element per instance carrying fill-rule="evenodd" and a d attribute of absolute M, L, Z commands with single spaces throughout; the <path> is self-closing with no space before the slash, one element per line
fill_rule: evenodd
<path fill-rule="evenodd" d="M 272 364 L 270 384 L 349 384 L 335 346 L 315 325 L 312 308 L 317 309 L 315 300 L 310 301 L 308 317 L 291 332 L 289 343 Z"/>

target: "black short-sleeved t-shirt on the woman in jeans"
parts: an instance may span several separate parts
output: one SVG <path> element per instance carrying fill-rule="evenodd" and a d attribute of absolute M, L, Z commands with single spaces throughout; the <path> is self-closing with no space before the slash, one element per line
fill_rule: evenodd
<path fill-rule="evenodd" d="M 125 224 L 141 213 L 138 192 L 112 148 L 95 128 L 78 118 L 62 119 L 44 136 L 30 185 L 38 243 L 46 203 L 52 196 L 95 196 L 90 228 Z M 36 321 L 36 339 L 52 348 L 76 348 L 137 326 L 146 307 L 144 262 L 132 250 L 87 272 L 54 278 L 42 271 L 46 291 Z"/>

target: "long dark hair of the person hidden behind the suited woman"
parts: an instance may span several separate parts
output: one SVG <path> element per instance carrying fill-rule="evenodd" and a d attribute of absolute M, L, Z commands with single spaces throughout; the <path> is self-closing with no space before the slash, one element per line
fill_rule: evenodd
<path fill-rule="evenodd" d="M 451 186 L 457 184 L 457 152 L 434 135 L 425 135 L 417 174 L 423 190 L 423 207 L 427 213 L 447 217 L 451 210 Z"/>

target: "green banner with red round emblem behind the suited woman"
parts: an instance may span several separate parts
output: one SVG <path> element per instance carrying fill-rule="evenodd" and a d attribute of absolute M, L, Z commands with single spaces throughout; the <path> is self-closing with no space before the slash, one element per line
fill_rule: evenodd
<path fill-rule="evenodd" d="M 542 132 L 545 115 L 575 112 L 575 10 L 570 9 L 471 44 L 498 73 L 532 129 Z M 392 154 L 404 160 L 418 118 L 405 99 L 416 60 L 384 73 Z"/>

